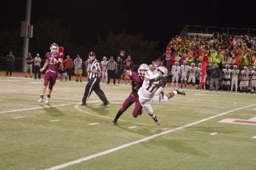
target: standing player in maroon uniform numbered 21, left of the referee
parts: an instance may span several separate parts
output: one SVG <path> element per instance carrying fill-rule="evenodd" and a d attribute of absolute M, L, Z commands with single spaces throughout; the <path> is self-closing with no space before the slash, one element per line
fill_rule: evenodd
<path fill-rule="evenodd" d="M 43 91 L 42 94 L 40 94 L 40 98 L 38 100 L 39 103 L 43 101 L 43 96 L 46 94 L 46 88 L 48 86 L 49 90 L 45 100 L 46 104 L 49 103 L 49 98 L 52 94 L 52 88 L 55 85 L 56 79 L 58 77 L 58 69 L 59 67 L 63 67 L 62 63 L 64 56 L 62 51 L 58 51 L 58 45 L 56 43 L 53 43 L 50 46 L 50 50 L 51 52 L 46 53 L 46 63 L 44 64 L 43 68 L 40 69 L 40 72 L 43 72 L 43 70 L 45 70 L 48 66 L 44 76 Z"/>

